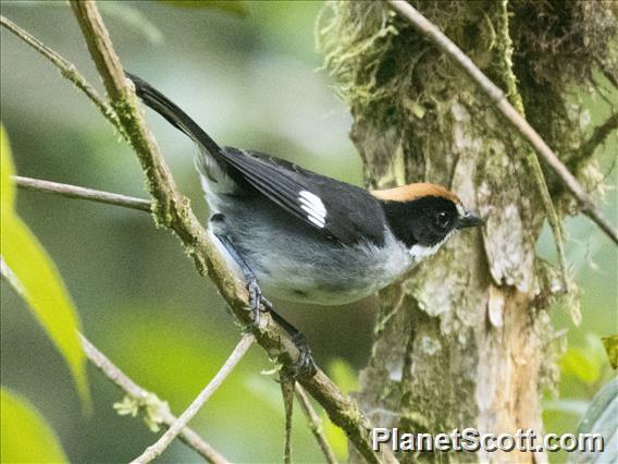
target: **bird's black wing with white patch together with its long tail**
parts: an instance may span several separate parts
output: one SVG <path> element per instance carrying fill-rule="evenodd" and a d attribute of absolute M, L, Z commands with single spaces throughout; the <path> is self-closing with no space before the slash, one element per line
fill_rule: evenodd
<path fill-rule="evenodd" d="M 258 151 L 221 148 L 159 90 L 126 73 L 139 98 L 205 148 L 217 164 L 325 236 L 344 244 L 384 242 L 384 210 L 369 192 Z M 207 154 L 208 155 L 207 155 Z M 231 168 L 231 169 L 230 169 Z"/>

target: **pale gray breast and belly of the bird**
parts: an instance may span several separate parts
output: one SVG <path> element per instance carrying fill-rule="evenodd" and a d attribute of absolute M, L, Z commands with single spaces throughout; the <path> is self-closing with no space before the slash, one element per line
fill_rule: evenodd
<path fill-rule="evenodd" d="M 384 288 L 412 264 L 391 233 L 384 247 L 342 246 L 259 194 L 209 199 L 213 212 L 224 215 L 227 233 L 267 297 L 349 303 Z"/>

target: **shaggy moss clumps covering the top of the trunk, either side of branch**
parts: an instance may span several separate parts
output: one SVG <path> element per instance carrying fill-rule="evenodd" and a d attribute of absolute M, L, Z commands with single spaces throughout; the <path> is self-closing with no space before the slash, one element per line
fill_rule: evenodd
<path fill-rule="evenodd" d="M 508 58 L 528 120 L 565 161 L 576 156 L 586 126 L 581 109 L 572 105 L 573 93 L 594 90 L 593 72 L 601 62 L 618 63 L 618 47 L 611 49 L 618 38 L 615 2 L 509 1 L 511 47 L 498 34 L 502 2 L 411 3 L 505 91 L 512 88 L 504 77 L 504 53 L 512 49 Z M 429 112 L 440 124 L 450 110 L 450 101 L 440 98 L 445 82 L 470 85 L 450 59 L 382 2 L 329 2 L 317 29 L 324 69 L 357 121 L 373 118 L 383 127 L 404 127 L 410 117 L 422 119 Z M 564 194 L 553 173 L 545 174 L 551 191 Z M 580 160 L 574 174 L 591 190 L 603 191 L 592 159 Z M 563 202 L 563 210 L 572 212 L 572 205 Z"/>

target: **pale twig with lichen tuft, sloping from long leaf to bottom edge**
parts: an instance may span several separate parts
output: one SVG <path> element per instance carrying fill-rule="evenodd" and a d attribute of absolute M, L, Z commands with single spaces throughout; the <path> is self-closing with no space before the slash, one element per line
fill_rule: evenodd
<path fill-rule="evenodd" d="M 114 382 L 118 387 L 120 387 L 126 394 L 131 398 L 136 399 L 138 401 L 144 402 L 152 402 L 153 399 L 157 396 L 139 387 L 135 383 L 131 378 L 126 376 L 119 367 L 116 367 L 103 353 L 101 353 L 86 337 L 82 337 L 82 346 L 84 349 L 84 353 L 88 359 L 97 367 L 99 370 L 112 382 Z M 174 416 L 169 407 L 166 407 L 166 403 L 161 400 L 154 400 L 161 403 L 159 407 L 157 407 L 157 413 L 161 418 L 161 423 L 171 428 L 177 422 L 177 417 Z M 223 457 L 217 450 L 214 450 L 210 444 L 208 444 L 203 439 L 197 435 L 193 429 L 189 427 L 184 427 L 178 438 L 186 443 L 188 447 L 193 448 L 197 451 L 202 457 L 205 457 L 208 462 L 213 464 L 225 464 L 227 460 Z"/>

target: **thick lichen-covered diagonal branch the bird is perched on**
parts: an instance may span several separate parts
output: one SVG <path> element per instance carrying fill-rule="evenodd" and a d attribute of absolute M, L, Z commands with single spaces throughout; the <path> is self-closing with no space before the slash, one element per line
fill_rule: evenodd
<path fill-rule="evenodd" d="M 147 185 L 153 198 L 156 223 L 172 229 L 185 245 L 187 254 L 202 276 L 210 274 L 212 282 L 228 304 L 234 316 L 244 325 L 251 321 L 247 310 L 247 289 L 231 271 L 218 254 L 189 202 L 178 191 L 163 160 L 154 138 L 147 130 L 136 108 L 133 88 L 124 78 L 122 65 L 113 50 L 108 32 L 90 0 L 71 0 L 71 7 L 90 50 L 90 54 L 103 78 L 121 124 L 139 158 L 147 176 Z M 251 330 L 260 345 L 282 364 L 294 363 L 299 352 L 289 334 L 267 314 L 261 327 Z M 307 391 L 324 407 L 332 422 L 339 426 L 368 462 L 396 462 L 386 447 L 374 452 L 371 445 L 371 427 L 357 403 L 344 395 L 326 375 L 318 369 L 311 378 L 299 379 Z"/>

